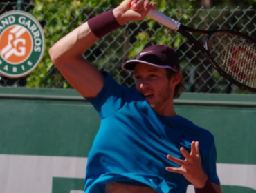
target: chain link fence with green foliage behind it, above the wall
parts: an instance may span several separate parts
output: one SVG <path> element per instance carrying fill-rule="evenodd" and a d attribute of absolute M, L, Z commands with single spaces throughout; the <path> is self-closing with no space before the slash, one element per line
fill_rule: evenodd
<path fill-rule="evenodd" d="M 72 1 L 68 4 L 61 1 L 60 3 L 49 1 L 47 4 L 25 3 L 24 1 L 0 3 L 0 14 L 10 10 L 30 12 L 44 28 L 46 38 L 44 58 L 37 69 L 21 79 L 8 79 L 0 75 L 0 86 L 71 88 L 71 85 L 51 62 L 48 50 L 57 40 L 84 21 L 110 8 L 111 6 L 104 8 L 86 6 L 80 1 Z M 237 30 L 256 38 L 256 10 L 253 7 L 166 8 L 160 11 L 192 28 Z M 195 36 L 203 43 L 202 35 Z M 100 70 L 110 72 L 122 85 L 134 86 L 131 74 L 122 71 L 120 65 L 127 59 L 135 57 L 145 45 L 154 44 L 165 44 L 176 49 L 180 56 L 187 92 L 249 93 L 223 79 L 205 60 L 201 52 L 179 33 L 149 18 L 145 21 L 127 23 L 122 28 L 111 32 L 87 50 L 84 57 L 97 65 Z"/>

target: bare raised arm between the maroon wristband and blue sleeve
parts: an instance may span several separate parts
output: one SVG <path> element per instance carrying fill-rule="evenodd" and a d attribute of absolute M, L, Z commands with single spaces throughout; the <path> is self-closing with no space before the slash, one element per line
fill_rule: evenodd
<path fill-rule="evenodd" d="M 97 39 L 86 22 L 57 41 L 49 51 L 56 68 L 84 97 L 96 96 L 103 85 L 102 74 L 82 57 Z"/>

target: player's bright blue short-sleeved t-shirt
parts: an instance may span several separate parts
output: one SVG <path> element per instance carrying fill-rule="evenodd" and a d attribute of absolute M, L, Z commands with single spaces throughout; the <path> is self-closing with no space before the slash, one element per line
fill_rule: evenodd
<path fill-rule="evenodd" d="M 85 193 L 104 193 L 113 181 L 149 186 L 158 193 L 184 193 L 190 184 L 182 174 L 165 167 L 180 167 L 166 156 L 184 159 L 199 141 L 203 170 L 219 184 L 214 137 L 182 116 L 159 116 L 135 89 L 119 85 L 105 73 L 104 87 L 87 99 L 100 114 L 101 124 L 89 152 Z"/>

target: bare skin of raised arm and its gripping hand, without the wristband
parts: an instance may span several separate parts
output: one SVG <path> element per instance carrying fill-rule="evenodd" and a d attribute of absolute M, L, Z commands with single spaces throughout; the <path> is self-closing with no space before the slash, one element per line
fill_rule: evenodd
<path fill-rule="evenodd" d="M 134 9 L 131 10 L 131 1 L 125 0 L 113 9 L 113 15 L 121 26 L 128 21 L 143 20 L 149 9 L 156 7 L 149 0 L 134 0 Z M 86 22 L 57 41 L 49 51 L 53 63 L 68 83 L 87 98 L 97 96 L 104 84 L 104 77 L 95 65 L 82 57 L 97 39 Z"/>

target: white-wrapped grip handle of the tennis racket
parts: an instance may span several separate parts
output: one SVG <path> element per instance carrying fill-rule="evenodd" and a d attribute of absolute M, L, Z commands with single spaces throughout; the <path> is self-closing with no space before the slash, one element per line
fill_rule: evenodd
<path fill-rule="evenodd" d="M 179 23 L 178 21 L 175 21 L 174 19 L 167 17 L 165 14 L 158 12 L 156 10 L 149 10 L 147 16 L 151 19 L 154 19 L 154 21 L 163 24 L 163 26 L 171 28 L 175 31 L 179 30 L 179 27 L 181 26 L 181 23 Z"/>

